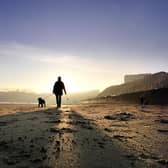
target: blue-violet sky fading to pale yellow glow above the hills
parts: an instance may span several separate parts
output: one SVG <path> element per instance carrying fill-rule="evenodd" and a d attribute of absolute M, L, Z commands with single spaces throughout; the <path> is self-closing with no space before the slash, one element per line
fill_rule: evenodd
<path fill-rule="evenodd" d="M 103 90 L 168 71 L 167 0 L 0 0 L 0 90 Z"/>

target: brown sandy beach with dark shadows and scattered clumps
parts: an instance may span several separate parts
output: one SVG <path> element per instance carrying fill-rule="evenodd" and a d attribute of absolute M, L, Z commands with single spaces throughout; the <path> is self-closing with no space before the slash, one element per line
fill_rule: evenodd
<path fill-rule="evenodd" d="M 2 168 L 167 168 L 168 106 L 0 105 Z"/>

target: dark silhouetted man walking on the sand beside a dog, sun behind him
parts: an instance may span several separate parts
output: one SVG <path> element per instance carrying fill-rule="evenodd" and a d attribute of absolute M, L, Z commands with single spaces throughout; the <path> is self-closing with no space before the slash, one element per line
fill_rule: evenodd
<path fill-rule="evenodd" d="M 63 95 L 63 90 L 64 93 L 66 94 L 64 83 L 61 81 L 61 77 L 59 76 L 58 81 L 55 82 L 53 88 L 53 94 L 55 94 L 56 96 L 57 108 L 61 107 L 61 96 Z"/>

